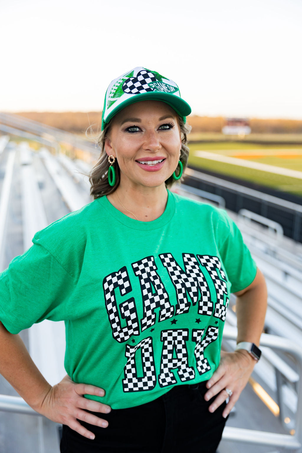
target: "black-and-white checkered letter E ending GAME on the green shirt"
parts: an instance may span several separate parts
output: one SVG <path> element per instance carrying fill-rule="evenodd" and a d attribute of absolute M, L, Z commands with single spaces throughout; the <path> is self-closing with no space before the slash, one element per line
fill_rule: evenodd
<path fill-rule="evenodd" d="M 201 262 L 201 265 L 205 266 L 206 270 L 209 272 L 211 279 L 213 280 L 217 302 L 215 304 L 215 313 L 216 318 L 222 319 L 225 321 L 226 309 L 229 305 L 228 290 L 225 283 L 225 272 L 222 269 L 221 262 L 217 256 L 208 256 L 208 255 L 197 255 L 198 260 Z M 219 274 L 217 272 L 219 270 Z M 224 294 L 225 303 L 224 303 Z"/>

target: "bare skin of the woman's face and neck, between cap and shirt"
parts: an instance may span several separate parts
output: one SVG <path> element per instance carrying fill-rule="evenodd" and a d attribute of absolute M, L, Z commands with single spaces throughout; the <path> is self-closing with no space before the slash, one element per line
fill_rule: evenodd
<path fill-rule="evenodd" d="M 111 122 L 110 134 L 105 137 L 105 152 L 117 160 L 120 178 L 115 191 L 107 198 L 115 207 L 130 212 L 129 198 L 137 199 L 138 193 L 141 197 L 149 196 L 152 189 L 161 202 L 152 206 L 149 196 L 148 207 L 141 204 L 132 213 L 138 220 L 154 220 L 163 213 L 167 203 L 166 181 L 182 165 L 179 161 L 183 159 L 187 164 L 181 155 L 177 113 L 162 101 L 141 101 L 126 106 Z M 172 183 L 174 179 L 171 179 Z"/>

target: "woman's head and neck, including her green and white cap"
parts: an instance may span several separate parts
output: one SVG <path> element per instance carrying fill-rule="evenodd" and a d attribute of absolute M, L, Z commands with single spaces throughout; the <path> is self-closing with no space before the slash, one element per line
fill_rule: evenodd
<path fill-rule="evenodd" d="M 89 175 L 91 196 L 107 195 L 113 206 L 136 220 L 158 218 L 167 203 L 166 189 L 181 180 L 187 166 L 190 112 L 176 83 L 158 72 L 137 67 L 112 81 L 98 138 L 101 154 Z M 109 166 L 115 184 L 107 178 Z M 160 203 L 152 204 L 151 188 Z M 136 209 L 129 209 L 129 197 L 138 203 Z"/>

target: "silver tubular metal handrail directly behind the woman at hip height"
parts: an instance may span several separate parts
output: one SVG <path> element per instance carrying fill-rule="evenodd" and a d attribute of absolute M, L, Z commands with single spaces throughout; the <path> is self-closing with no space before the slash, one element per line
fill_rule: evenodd
<path fill-rule="evenodd" d="M 223 337 L 229 340 L 236 340 L 237 328 L 225 325 Z M 260 346 L 271 347 L 283 352 L 292 354 L 298 362 L 300 376 L 302 376 L 302 348 L 288 338 L 278 337 L 262 333 L 260 337 Z M 257 365 L 256 365 L 257 366 Z M 276 434 L 267 431 L 258 431 L 255 429 L 234 428 L 225 426 L 222 439 L 227 441 L 236 441 L 250 443 L 254 445 L 269 445 L 285 449 L 302 452 L 302 386 L 300 381 L 297 385 L 298 400 L 296 414 L 295 434 Z M 18 396 L 0 395 L 0 410 L 9 412 L 21 412 L 29 415 L 40 415 L 35 412 L 25 401 Z"/>

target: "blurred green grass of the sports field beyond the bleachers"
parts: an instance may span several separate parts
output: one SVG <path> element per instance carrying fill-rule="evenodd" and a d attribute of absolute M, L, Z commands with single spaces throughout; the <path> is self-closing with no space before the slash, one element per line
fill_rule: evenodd
<path fill-rule="evenodd" d="M 267 155 L 264 158 L 251 158 L 249 160 L 253 162 L 262 162 L 264 164 L 276 165 L 288 169 L 295 169 L 302 171 L 302 145 L 259 145 L 253 143 L 238 143 L 238 142 L 213 142 L 213 143 L 192 143 L 189 144 L 190 155 L 188 163 L 194 167 L 199 167 L 201 170 L 206 169 L 216 173 L 221 173 L 235 178 L 244 179 L 246 181 L 258 183 L 267 187 L 271 187 L 283 192 L 293 193 L 295 195 L 302 196 L 302 179 L 292 178 L 288 176 L 278 175 L 275 173 L 269 173 L 262 170 L 255 170 L 245 167 L 239 167 L 238 165 L 226 164 L 225 162 L 218 162 L 211 159 L 204 159 L 194 155 L 194 151 L 206 150 L 209 152 L 215 152 L 217 154 L 224 154 L 236 157 L 235 153 L 231 150 L 240 150 L 241 154 L 244 151 L 248 153 L 251 149 L 264 151 L 264 154 L 269 153 L 269 149 L 284 149 L 284 154 L 290 154 L 291 149 L 293 152 L 301 151 L 301 158 L 290 158 L 282 159 L 273 155 Z M 288 150 L 288 151 L 285 151 Z M 237 153 L 238 154 L 238 153 Z M 300 154 L 300 153 L 299 153 Z M 245 159 L 243 159 L 245 160 Z"/>

